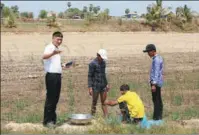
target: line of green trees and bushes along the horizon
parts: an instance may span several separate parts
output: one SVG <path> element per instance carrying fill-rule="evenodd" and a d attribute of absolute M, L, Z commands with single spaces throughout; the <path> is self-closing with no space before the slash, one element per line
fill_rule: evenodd
<path fill-rule="evenodd" d="M 155 27 L 160 27 L 164 23 L 176 23 L 179 27 L 183 27 L 186 23 L 190 23 L 193 20 L 193 11 L 187 5 L 177 7 L 175 9 L 175 13 L 173 13 L 171 11 L 171 7 L 163 7 L 162 0 L 156 0 L 156 3 L 148 5 L 146 9 L 147 13 L 142 14 L 141 17 L 144 18 L 146 20 L 146 24 L 150 25 L 153 29 Z M 38 18 L 47 19 L 48 26 L 55 25 L 56 18 L 85 19 L 87 24 L 94 22 L 107 23 L 107 21 L 111 18 L 109 12 L 108 8 L 101 11 L 100 6 L 95 6 L 93 4 L 84 6 L 83 9 L 73 8 L 72 3 L 67 2 L 65 11 L 56 14 L 54 12 L 41 10 Z M 128 15 L 130 13 L 130 9 L 125 9 L 124 13 Z M 16 18 L 34 18 L 33 12 L 19 12 L 19 7 L 17 5 L 8 7 L 3 3 L 1 3 L 1 15 L 5 18 L 7 24 L 10 25 L 9 27 L 16 26 L 14 24 Z"/>

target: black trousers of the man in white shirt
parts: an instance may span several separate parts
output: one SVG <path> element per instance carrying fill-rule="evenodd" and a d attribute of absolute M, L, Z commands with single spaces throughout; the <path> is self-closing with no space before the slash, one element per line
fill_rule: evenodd
<path fill-rule="evenodd" d="M 61 74 L 47 73 L 46 81 L 46 102 L 44 107 L 43 125 L 49 122 L 56 124 L 57 115 L 56 107 L 59 101 L 61 90 Z"/>

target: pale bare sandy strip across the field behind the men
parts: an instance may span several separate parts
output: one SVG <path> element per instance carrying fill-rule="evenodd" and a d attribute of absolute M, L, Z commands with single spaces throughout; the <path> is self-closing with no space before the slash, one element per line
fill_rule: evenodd
<path fill-rule="evenodd" d="M 151 33 L 151 32 L 90 32 L 64 33 L 61 49 L 64 56 L 95 56 L 99 48 L 105 48 L 109 56 L 142 54 L 146 44 L 154 43 L 161 52 L 199 51 L 199 33 Z M 1 55 L 42 55 L 45 45 L 51 42 L 49 34 L 1 34 Z"/>

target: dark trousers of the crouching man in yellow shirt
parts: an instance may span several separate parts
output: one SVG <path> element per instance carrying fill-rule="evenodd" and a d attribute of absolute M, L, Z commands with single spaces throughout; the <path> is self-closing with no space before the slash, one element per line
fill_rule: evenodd
<path fill-rule="evenodd" d="M 127 123 L 131 124 L 138 124 L 139 122 L 142 121 L 143 118 L 132 118 L 130 116 L 126 102 L 119 103 L 119 108 L 122 113 L 122 121 L 126 121 Z"/>

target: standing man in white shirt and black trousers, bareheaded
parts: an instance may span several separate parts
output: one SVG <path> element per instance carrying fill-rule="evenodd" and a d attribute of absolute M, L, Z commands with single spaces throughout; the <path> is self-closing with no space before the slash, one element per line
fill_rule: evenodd
<path fill-rule="evenodd" d="M 59 46 L 63 40 L 61 32 L 54 32 L 52 35 L 52 43 L 48 44 L 44 50 L 43 61 L 46 72 L 46 102 L 44 107 L 43 125 L 47 127 L 55 127 L 56 124 L 56 106 L 59 101 L 61 90 L 61 51 Z"/>

